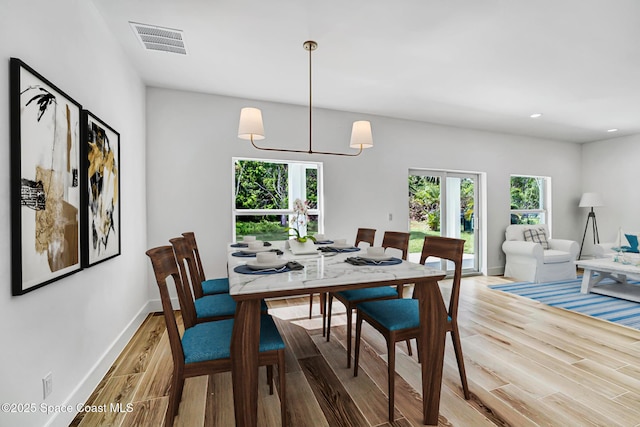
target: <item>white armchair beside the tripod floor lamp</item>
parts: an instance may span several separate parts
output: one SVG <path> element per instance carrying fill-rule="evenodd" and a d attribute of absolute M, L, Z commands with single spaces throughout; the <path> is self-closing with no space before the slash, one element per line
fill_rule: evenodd
<path fill-rule="evenodd" d="M 543 231 L 549 249 L 543 249 L 540 243 L 526 241 L 524 232 L 527 229 Z M 578 242 L 573 240 L 549 239 L 545 224 L 509 225 L 502 244 L 506 255 L 504 275 L 534 283 L 575 279 L 575 260 L 579 249 Z"/>

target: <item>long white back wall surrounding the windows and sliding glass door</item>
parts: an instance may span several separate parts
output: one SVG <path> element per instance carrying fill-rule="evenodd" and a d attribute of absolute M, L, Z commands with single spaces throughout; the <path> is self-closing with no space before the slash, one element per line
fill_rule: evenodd
<path fill-rule="evenodd" d="M 410 168 L 486 172 L 489 274 L 504 269 L 510 174 L 552 177 L 553 234 L 574 240 L 580 235 L 580 145 L 315 109 L 316 150 L 347 151 L 351 123 L 362 118 L 372 122 L 374 148 L 357 158 L 270 153 L 237 138 L 243 106 L 263 111 L 267 138 L 262 145 L 306 148 L 305 106 L 147 90 L 149 245 L 194 231 L 208 276 L 226 272 L 234 156 L 324 162 L 325 232 L 352 239 L 359 226 L 377 228 L 380 240 L 384 230 L 408 229 Z"/>

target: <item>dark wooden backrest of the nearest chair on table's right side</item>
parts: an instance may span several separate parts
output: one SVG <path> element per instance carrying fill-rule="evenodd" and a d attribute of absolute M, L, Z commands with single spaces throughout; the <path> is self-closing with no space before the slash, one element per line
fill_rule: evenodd
<path fill-rule="evenodd" d="M 465 241 L 462 239 L 426 236 L 422 246 L 422 254 L 420 255 L 420 264 L 424 264 L 430 256 L 453 262 L 454 273 L 453 285 L 451 287 L 451 298 L 449 299 L 449 316 L 454 321 L 458 316 L 458 300 L 460 299 L 460 281 L 462 279 L 464 243 Z"/>

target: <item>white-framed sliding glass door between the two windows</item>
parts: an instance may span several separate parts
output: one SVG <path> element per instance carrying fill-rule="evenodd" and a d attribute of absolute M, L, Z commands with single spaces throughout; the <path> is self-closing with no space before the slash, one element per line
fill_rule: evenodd
<path fill-rule="evenodd" d="M 410 259 L 418 262 L 424 236 L 464 239 L 463 272 L 479 271 L 478 175 L 453 171 L 409 171 Z M 451 263 L 427 260 L 434 267 L 453 271 Z"/>

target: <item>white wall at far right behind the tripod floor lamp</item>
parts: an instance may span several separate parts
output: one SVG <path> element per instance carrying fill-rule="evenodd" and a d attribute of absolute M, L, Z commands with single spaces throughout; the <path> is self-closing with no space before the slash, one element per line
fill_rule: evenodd
<path fill-rule="evenodd" d="M 615 242 L 618 228 L 640 233 L 640 191 L 638 170 L 640 135 L 620 137 L 585 144 L 582 153 L 583 191 L 600 193 L 603 207 L 594 208 L 601 242 Z M 580 209 L 581 234 L 587 221 L 587 208 Z M 591 254 L 593 237 L 591 223 L 584 244 L 584 253 Z M 623 237 L 624 239 L 624 237 Z M 623 244 L 627 244 L 623 240 Z"/>

